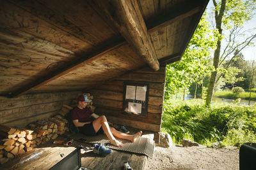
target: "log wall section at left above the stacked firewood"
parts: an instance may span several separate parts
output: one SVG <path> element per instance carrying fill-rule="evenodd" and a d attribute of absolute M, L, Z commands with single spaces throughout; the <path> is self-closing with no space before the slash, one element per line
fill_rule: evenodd
<path fill-rule="evenodd" d="M 24 127 L 35 120 L 49 118 L 70 104 L 81 92 L 26 94 L 16 98 L 0 97 L 0 124 Z"/>

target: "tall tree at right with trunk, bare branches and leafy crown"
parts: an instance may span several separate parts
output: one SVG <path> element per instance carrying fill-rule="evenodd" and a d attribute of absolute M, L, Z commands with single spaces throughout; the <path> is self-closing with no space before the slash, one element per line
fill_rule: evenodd
<path fill-rule="evenodd" d="M 214 70 L 211 73 L 205 101 L 206 106 L 211 104 L 216 81 L 222 76 L 222 71 L 225 73 L 225 70 L 230 66 L 236 55 L 231 57 L 225 67 L 221 66 L 232 53 L 236 50 L 238 53 L 241 52 L 246 46 L 252 45 L 256 38 L 255 33 L 251 36 L 245 36 L 243 30 L 244 22 L 252 19 L 253 11 L 256 7 L 255 0 L 212 0 L 212 2 L 214 4 L 214 27 L 218 34 L 216 34 L 217 47 L 214 51 Z M 227 44 L 221 50 L 221 42 L 223 40 L 226 40 Z"/>

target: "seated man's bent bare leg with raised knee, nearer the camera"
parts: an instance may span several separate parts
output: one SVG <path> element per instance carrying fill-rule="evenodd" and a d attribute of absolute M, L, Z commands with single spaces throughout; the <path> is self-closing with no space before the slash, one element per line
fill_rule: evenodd
<path fill-rule="evenodd" d="M 106 136 L 108 137 L 112 145 L 115 145 L 115 146 L 123 145 L 120 141 L 116 140 L 116 138 L 113 136 L 109 128 L 107 118 L 105 116 L 100 116 L 99 118 L 96 118 L 95 120 L 93 120 L 92 124 L 95 132 L 98 132 L 100 127 L 102 127 L 104 133 L 106 134 Z"/>

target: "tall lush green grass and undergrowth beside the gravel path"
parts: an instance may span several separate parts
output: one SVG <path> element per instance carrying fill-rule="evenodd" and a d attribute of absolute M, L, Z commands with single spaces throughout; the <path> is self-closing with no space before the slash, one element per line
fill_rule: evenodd
<path fill-rule="evenodd" d="M 256 105 L 240 106 L 214 103 L 210 108 L 201 99 L 169 100 L 164 104 L 162 132 L 172 136 L 173 143 L 191 139 L 211 146 L 256 141 Z"/>

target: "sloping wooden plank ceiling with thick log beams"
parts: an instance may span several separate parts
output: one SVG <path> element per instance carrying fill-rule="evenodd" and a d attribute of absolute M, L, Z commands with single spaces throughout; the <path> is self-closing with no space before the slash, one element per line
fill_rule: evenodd
<path fill-rule="evenodd" d="M 83 90 L 180 60 L 209 0 L 0 0 L 0 95 Z"/>

